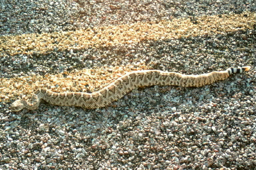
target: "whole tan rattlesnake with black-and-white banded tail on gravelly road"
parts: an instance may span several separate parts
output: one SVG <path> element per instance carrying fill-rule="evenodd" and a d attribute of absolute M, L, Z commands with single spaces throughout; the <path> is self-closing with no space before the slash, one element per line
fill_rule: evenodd
<path fill-rule="evenodd" d="M 10 105 L 12 111 L 23 108 L 37 109 L 40 100 L 59 106 L 79 106 L 86 109 L 105 107 L 111 102 L 122 98 L 129 91 L 141 86 L 175 85 L 182 87 L 201 87 L 217 80 L 225 80 L 232 73 L 248 71 L 250 66 L 229 68 L 226 71 L 213 71 L 200 75 L 184 75 L 176 72 L 160 70 L 140 70 L 127 73 L 103 89 L 93 92 L 64 92 L 55 93 L 46 89 L 38 89 L 32 97 L 32 103 L 26 100 L 16 100 Z"/>

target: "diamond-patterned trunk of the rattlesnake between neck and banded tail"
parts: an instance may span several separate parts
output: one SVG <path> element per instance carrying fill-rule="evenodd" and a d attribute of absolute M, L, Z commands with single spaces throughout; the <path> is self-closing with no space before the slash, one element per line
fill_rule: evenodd
<path fill-rule="evenodd" d="M 208 77 L 208 78 L 207 78 Z M 209 78 L 211 77 L 211 78 Z M 214 72 L 207 75 L 182 75 L 175 72 L 163 72 L 149 70 L 145 72 L 132 72 L 126 76 L 122 76 L 114 83 L 94 93 L 53 93 L 47 92 L 43 99 L 54 105 L 60 106 L 80 106 L 85 108 L 99 108 L 109 105 L 112 101 L 122 98 L 129 91 L 141 86 L 152 85 L 176 85 L 176 86 L 202 86 L 210 84 L 217 78 Z M 226 77 L 226 76 L 223 76 Z"/>

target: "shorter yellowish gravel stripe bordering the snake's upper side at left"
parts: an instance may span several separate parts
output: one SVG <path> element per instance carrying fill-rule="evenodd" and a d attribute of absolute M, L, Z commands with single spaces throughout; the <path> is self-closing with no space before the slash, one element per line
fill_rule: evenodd
<path fill-rule="evenodd" d="M 56 75 L 32 75 L 19 78 L 0 78 L 0 102 L 9 102 L 31 98 L 33 92 L 39 88 L 50 88 L 54 92 L 93 92 L 107 86 L 127 72 L 142 70 L 132 65 L 101 67 L 98 69 L 83 69 L 74 72 L 63 72 Z"/>

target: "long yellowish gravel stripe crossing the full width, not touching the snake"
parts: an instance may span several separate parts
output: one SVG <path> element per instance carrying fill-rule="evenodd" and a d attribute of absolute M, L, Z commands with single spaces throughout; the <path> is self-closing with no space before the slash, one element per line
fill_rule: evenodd
<path fill-rule="evenodd" d="M 245 17 L 246 16 L 246 17 Z M 45 53 L 56 48 L 59 51 L 114 46 L 119 43 L 136 43 L 143 40 L 163 40 L 199 35 L 226 34 L 238 30 L 253 29 L 256 13 L 201 16 L 193 24 L 187 18 L 174 18 L 159 23 L 135 23 L 70 32 L 22 34 L 0 37 L 0 54 L 29 55 Z M 1 57 L 1 55 L 0 55 Z"/>

